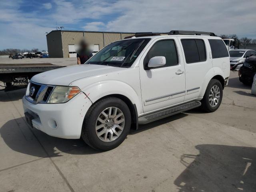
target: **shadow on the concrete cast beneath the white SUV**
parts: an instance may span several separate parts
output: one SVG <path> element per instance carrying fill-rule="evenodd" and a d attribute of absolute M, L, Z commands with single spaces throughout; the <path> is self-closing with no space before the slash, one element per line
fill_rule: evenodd
<path fill-rule="evenodd" d="M 131 130 L 130 134 L 146 131 L 178 118 L 187 116 L 177 114 L 175 116 L 158 120 L 150 124 L 139 126 L 138 130 Z M 67 154 L 84 155 L 96 154 L 98 151 L 86 145 L 82 139 L 62 139 L 49 136 L 35 128 L 30 128 L 24 118 L 9 120 L 0 128 L 0 135 L 9 148 L 14 151 L 37 157 L 62 156 Z"/>

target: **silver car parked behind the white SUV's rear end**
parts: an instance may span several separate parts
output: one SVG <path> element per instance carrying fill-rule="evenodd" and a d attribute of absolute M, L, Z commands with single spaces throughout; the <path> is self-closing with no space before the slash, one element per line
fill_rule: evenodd
<path fill-rule="evenodd" d="M 256 51 L 250 49 L 230 50 L 230 70 L 239 70 L 244 63 L 244 60 L 255 54 Z"/>

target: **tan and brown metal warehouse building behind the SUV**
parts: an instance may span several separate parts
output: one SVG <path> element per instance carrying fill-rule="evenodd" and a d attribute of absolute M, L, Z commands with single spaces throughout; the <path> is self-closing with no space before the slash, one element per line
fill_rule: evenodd
<path fill-rule="evenodd" d="M 94 44 L 94 53 L 113 41 L 124 39 L 134 33 L 53 30 L 46 35 L 49 57 L 76 57 L 74 44 L 85 38 Z"/>

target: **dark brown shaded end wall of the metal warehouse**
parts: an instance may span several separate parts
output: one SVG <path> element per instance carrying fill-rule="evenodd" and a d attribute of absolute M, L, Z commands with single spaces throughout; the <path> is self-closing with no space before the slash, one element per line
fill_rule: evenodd
<path fill-rule="evenodd" d="M 49 57 L 62 58 L 62 40 L 60 31 L 53 31 L 46 36 Z"/>

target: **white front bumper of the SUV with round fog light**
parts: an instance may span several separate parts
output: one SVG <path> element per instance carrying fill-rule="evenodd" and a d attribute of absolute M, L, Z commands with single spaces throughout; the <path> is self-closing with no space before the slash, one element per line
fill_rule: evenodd
<path fill-rule="evenodd" d="M 31 117 L 32 127 L 66 139 L 80 138 L 84 116 L 92 104 L 82 92 L 62 104 L 32 104 L 25 96 L 22 103 L 26 117 Z"/>

